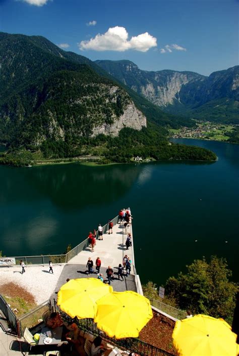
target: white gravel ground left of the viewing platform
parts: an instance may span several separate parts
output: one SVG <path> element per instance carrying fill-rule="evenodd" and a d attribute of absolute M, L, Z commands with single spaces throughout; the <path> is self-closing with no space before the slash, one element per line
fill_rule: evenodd
<path fill-rule="evenodd" d="M 34 266 L 28 265 L 25 273 L 21 273 L 21 266 L 0 267 L 0 285 L 13 282 L 25 288 L 31 293 L 39 305 L 46 300 L 55 291 L 55 287 L 59 276 L 62 273 L 64 264 L 62 266 L 53 265 L 53 274 L 49 273 L 48 266 Z M 5 292 L 7 296 L 7 291 Z M 21 296 L 19 296 L 21 297 Z"/>

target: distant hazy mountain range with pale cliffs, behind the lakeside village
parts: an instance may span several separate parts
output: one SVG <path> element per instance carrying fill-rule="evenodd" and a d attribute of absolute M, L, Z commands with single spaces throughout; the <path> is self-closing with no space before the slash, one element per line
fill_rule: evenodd
<path fill-rule="evenodd" d="M 147 72 L 129 60 L 95 63 L 167 113 L 238 123 L 239 66 L 205 77 L 175 70 Z"/>

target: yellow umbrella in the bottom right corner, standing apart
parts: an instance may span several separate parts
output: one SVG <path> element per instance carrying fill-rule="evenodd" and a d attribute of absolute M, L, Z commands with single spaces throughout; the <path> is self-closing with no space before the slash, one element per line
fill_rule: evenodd
<path fill-rule="evenodd" d="M 236 356 L 236 335 L 223 319 L 208 315 L 176 321 L 173 344 L 182 356 Z"/>

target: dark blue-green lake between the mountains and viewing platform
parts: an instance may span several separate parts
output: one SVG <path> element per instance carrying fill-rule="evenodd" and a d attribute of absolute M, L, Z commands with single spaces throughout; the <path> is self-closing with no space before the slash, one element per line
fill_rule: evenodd
<path fill-rule="evenodd" d="M 195 258 L 211 255 L 226 257 L 238 281 L 239 146 L 172 141 L 208 148 L 218 161 L 0 166 L 0 250 L 6 256 L 63 253 L 130 206 L 142 283 L 161 285 Z"/>

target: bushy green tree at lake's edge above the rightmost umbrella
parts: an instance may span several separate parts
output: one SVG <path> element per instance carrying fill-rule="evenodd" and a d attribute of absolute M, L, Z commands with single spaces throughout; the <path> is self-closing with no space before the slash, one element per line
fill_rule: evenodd
<path fill-rule="evenodd" d="M 231 323 L 238 286 L 229 281 L 231 271 L 226 259 L 211 256 L 209 263 L 205 258 L 194 260 L 187 268 L 187 274 L 180 272 L 177 278 L 168 278 L 165 295 L 174 298 L 180 309 Z"/>

